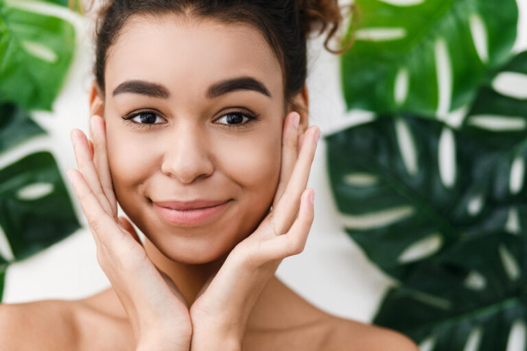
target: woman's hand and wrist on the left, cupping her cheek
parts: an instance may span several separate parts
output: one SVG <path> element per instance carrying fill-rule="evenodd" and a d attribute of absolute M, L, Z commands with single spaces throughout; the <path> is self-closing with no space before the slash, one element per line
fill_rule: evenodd
<path fill-rule="evenodd" d="M 117 217 L 105 123 L 93 116 L 90 126 L 93 143 L 82 131 L 71 131 L 79 169 L 69 169 L 67 175 L 93 233 L 97 261 L 126 310 L 137 350 L 189 350 L 188 304 L 174 282 L 150 261 L 131 223 Z"/>

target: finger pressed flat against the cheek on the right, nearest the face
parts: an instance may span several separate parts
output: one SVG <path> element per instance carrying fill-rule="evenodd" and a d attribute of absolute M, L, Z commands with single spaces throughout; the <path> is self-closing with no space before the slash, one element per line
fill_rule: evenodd
<path fill-rule="evenodd" d="M 293 172 L 296 158 L 298 158 L 298 123 L 300 123 L 300 115 L 298 112 L 288 114 L 283 128 L 282 136 L 282 161 L 280 167 L 280 182 L 277 187 L 277 193 L 274 195 L 272 207 L 277 206 L 277 203 L 282 197 L 285 186 Z"/>

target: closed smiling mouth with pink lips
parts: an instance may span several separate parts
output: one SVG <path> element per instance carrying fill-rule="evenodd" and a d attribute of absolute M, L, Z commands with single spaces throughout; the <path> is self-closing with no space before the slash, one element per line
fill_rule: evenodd
<path fill-rule="evenodd" d="M 158 215 L 165 221 L 186 226 L 217 217 L 230 203 L 231 199 L 226 201 L 152 202 Z"/>

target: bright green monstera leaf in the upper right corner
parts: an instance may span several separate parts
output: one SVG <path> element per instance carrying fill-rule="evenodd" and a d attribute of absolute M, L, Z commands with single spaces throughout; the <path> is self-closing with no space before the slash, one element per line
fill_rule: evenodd
<path fill-rule="evenodd" d="M 357 0 L 342 56 L 347 107 L 424 117 L 471 103 L 489 69 L 510 58 L 515 0 Z"/>

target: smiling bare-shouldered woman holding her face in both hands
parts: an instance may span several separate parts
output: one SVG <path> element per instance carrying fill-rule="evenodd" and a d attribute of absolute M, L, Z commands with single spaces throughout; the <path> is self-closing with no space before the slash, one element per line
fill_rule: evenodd
<path fill-rule="evenodd" d="M 1 306 L 1 350 L 417 350 L 274 276 L 314 217 L 306 38 L 340 20 L 336 1 L 109 1 L 68 177 L 111 287 Z"/>

